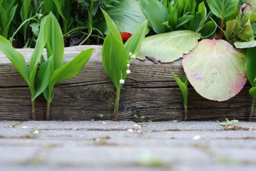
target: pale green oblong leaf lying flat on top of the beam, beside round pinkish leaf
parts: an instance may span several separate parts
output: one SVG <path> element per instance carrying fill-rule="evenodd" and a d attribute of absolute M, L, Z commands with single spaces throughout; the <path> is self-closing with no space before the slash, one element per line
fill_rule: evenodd
<path fill-rule="evenodd" d="M 173 31 L 146 37 L 137 58 L 144 60 L 145 57 L 154 61 L 172 62 L 194 49 L 199 36 L 190 30 Z"/>

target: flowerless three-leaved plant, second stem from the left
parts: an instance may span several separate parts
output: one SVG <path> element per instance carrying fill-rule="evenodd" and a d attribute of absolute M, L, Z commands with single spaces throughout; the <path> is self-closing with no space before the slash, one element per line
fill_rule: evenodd
<path fill-rule="evenodd" d="M 63 65 L 64 40 L 58 20 L 50 13 L 47 23 L 46 51 L 47 60 L 41 57 L 41 66 L 36 80 L 37 93 L 42 92 L 47 100 L 46 120 L 49 120 L 50 104 L 54 97 L 54 85 L 78 74 L 90 59 L 93 49 L 80 52 L 71 61 Z"/>

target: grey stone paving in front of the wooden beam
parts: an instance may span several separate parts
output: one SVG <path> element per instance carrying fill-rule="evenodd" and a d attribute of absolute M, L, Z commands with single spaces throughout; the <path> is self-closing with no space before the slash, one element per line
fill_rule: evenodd
<path fill-rule="evenodd" d="M 256 122 L 0 121 L 0 170 L 256 170 Z"/>

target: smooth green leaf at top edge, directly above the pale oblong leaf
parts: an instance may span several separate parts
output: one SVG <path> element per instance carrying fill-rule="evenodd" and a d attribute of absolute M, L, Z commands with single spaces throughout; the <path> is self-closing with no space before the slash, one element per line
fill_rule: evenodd
<path fill-rule="evenodd" d="M 167 9 L 162 3 L 155 0 L 139 0 L 140 7 L 144 14 L 150 19 L 153 30 L 160 34 L 165 32 L 165 25 L 168 18 Z"/>

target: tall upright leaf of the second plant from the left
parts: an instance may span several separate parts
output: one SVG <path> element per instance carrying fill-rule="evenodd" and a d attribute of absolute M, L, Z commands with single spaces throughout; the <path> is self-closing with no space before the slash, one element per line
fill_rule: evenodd
<path fill-rule="evenodd" d="M 51 12 L 47 17 L 47 43 L 51 47 L 54 70 L 63 65 L 64 40 L 57 18 Z M 47 48 L 47 51 L 49 49 Z"/>

